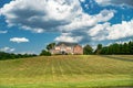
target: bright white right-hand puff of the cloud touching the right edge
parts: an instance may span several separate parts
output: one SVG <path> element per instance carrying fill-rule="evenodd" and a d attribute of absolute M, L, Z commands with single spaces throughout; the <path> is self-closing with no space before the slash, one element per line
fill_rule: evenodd
<path fill-rule="evenodd" d="M 130 22 L 123 21 L 121 24 L 114 24 L 108 28 L 108 40 L 119 40 L 133 36 L 133 20 Z"/>

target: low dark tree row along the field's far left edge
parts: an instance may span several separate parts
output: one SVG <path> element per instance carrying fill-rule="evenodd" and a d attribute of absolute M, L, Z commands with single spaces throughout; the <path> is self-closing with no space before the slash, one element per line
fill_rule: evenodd
<path fill-rule="evenodd" d="M 13 53 L 4 53 L 0 52 L 0 59 L 14 59 L 14 58 L 25 58 L 25 57 L 34 57 L 35 54 L 13 54 Z"/>

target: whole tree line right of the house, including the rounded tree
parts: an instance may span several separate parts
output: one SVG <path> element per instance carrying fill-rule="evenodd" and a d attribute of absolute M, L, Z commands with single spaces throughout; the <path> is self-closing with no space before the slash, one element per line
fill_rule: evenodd
<path fill-rule="evenodd" d="M 111 44 L 109 46 L 103 46 L 98 44 L 96 50 L 93 51 L 90 45 L 85 45 L 83 48 L 83 54 L 96 54 L 96 55 L 133 55 L 133 42 L 123 44 Z"/>

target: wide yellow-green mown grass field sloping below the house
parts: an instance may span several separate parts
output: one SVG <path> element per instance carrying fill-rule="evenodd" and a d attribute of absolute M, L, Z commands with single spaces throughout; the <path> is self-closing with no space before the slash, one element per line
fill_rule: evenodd
<path fill-rule="evenodd" d="M 133 87 L 133 55 L 0 61 L 0 88 Z"/>

